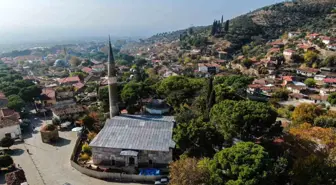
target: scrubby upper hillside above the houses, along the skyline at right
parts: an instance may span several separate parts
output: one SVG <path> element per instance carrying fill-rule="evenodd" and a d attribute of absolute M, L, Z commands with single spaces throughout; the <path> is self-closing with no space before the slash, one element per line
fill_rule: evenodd
<path fill-rule="evenodd" d="M 335 15 L 331 14 L 335 6 L 336 0 L 298 0 L 266 6 L 231 19 L 229 30 L 215 37 L 231 42 L 228 50 L 236 53 L 243 45 L 251 41 L 276 39 L 286 31 L 324 33 L 336 28 Z M 192 29 L 193 35 L 209 37 L 212 26 Z M 130 53 L 134 54 L 141 46 L 158 42 L 169 43 L 179 40 L 181 35 L 187 33 L 188 29 L 161 33 L 142 40 L 136 45 L 127 45 L 123 49 L 127 51 L 132 48 Z"/>

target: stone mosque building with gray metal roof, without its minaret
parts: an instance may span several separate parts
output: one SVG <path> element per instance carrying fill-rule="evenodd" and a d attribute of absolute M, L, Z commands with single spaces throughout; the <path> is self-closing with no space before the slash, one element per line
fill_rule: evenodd
<path fill-rule="evenodd" d="M 106 120 L 90 143 L 96 165 L 166 167 L 173 160 L 172 116 L 121 115 Z"/>

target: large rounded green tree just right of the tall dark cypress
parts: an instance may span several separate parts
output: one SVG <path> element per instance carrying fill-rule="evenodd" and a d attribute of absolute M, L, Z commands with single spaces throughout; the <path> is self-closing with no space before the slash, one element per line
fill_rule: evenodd
<path fill-rule="evenodd" d="M 277 113 L 265 103 L 224 100 L 211 109 L 210 121 L 225 140 L 237 137 L 254 141 L 260 137 L 273 139 L 282 134 L 281 125 L 275 124 L 276 117 Z"/>

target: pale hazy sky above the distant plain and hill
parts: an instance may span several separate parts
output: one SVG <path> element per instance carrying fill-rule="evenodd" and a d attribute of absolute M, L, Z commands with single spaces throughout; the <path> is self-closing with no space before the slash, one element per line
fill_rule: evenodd
<path fill-rule="evenodd" d="M 0 42 L 150 36 L 280 0 L 0 0 Z"/>

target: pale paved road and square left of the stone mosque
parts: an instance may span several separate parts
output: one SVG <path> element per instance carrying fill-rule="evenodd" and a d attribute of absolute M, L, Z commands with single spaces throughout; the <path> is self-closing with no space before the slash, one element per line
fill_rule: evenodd
<path fill-rule="evenodd" d="M 30 185 L 120 185 L 130 183 L 106 182 L 81 174 L 70 165 L 71 151 L 75 145 L 76 133 L 60 132 L 61 140 L 55 145 L 42 143 L 38 132 L 41 121 L 34 120 L 35 132 L 28 135 L 24 143 L 12 147 L 14 162 L 26 173 Z M 27 149 L 29 153 L 27 153 Z M 0 185 L 4 184 L 0 179 Z M 136 184 L 133 184 L 136 185 Z"/>

